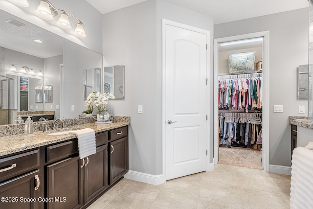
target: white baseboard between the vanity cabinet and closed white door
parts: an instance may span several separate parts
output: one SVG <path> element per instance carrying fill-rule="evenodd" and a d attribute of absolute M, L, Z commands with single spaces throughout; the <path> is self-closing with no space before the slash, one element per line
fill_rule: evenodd
<path fill-rule="evenodd" d="M 124 178 L 131 179 L 137 182 L 147 183 L 150 185 L 160 185 L 165 183 L 163 175 L 151 175 L 133 170 L 129 170 L 128 173 L 124 175 Z"/>

